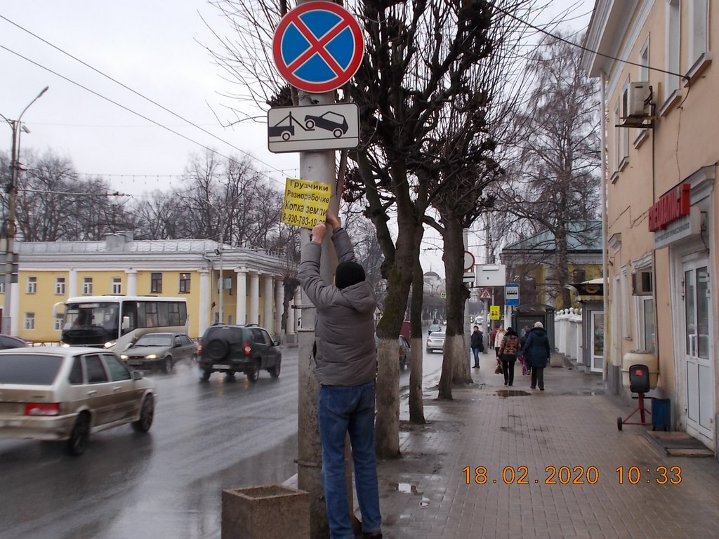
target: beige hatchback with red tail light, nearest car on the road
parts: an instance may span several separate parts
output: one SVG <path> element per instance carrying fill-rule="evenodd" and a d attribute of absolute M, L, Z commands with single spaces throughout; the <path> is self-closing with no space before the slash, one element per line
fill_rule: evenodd
<path fill-rule="evenodd" d="M 152 380 L 111 351 L 79 346 L 0 351 L 0 438 L 66 440 L 81 455 L 91 434 L 155 415 Z"/>

